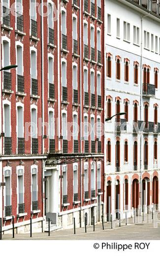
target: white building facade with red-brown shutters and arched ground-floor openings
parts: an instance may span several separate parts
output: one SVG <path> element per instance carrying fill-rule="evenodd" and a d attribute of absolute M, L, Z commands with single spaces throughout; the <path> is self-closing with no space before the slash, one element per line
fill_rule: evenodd
<path fill-rule="evenodd" d="M 160 210 L 160 2 L 105 1 L 106 219 Z"/>

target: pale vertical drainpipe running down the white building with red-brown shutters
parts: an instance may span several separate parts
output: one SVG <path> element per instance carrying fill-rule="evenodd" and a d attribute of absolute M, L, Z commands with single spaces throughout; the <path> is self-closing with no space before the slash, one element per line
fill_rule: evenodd
<path fill-rule="evenodd" d="M 142 91 L 143 91 L 143 81 L 142 81 L 142 59 L 143 59 L 143 18 L 149 16 L 150 13 L 147 15 L 141 16 L 141 60 L 140 60 L 140 121 L 142 121 Z M 142 154 L 141 154 L 141 147 L 142 147 L 142 132 L 140 133 L 140 215 L 142 211 Z"/>

